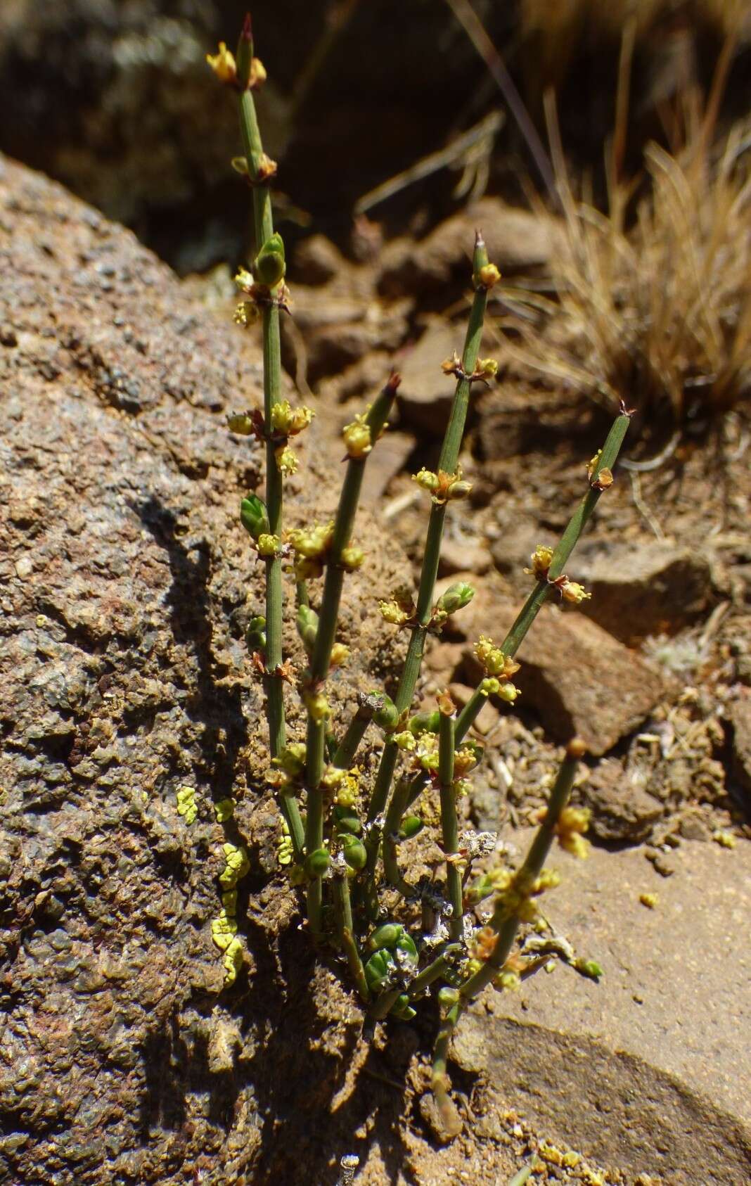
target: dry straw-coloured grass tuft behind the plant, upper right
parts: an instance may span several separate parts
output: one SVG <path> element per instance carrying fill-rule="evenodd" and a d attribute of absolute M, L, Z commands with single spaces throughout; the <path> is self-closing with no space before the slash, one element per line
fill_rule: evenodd
<path fill-rule="evenodd" d="M 706 129 L 704 129 L 706 130 Z M 676 423 L 723 413 L 751 383 L 751 129 L 721 151 L 700 130 L 680 159 L 645 149 L 649 190 L 625 228 L 574 199 L 554 145 L 564 206 L 556 300 L 505 291 L 509 352 L 610 409 L 620 400 Z"/>

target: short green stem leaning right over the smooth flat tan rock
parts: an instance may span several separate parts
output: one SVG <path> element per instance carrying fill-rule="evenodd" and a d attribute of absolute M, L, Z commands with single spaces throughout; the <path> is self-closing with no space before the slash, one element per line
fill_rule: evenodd
<path fill-rule="evenodd" d="M 584 752 L 585 747 L 581 741 L 573 740 L 568 742 L 566 757 L 561 763 L 558 778 L 550 790 L 546 817 L 540 824 L 540 828 L 529 847 L 524 863 L 516 874 L 517 881 L 528 881 L 532 884 L 540 876 L 542 866 L 545 865 L 555 837 L 555 828 L 558 825 L 558 821 L 560 820 L 561 811 L 568 802 L 579 759 L 584 755 Z M 498 940 L 492 950 L 492 954 L 490 958 L 485 961 L 479 971 L 475 973 L 473 976 L 470 976 L 459 989 L 459 1000 L 448 1009 L 435 1040 L 435 1048 L 433 1053 L 433 1084 L 439 1085 L 441 1090 L 441 1098 L 445 1098 L 446 1091 L 445 1083 L 448 1042 L 456 1028 L 457 1021 L 466 1006 L 477 996 L 478 993 L 483 990 L 486 984 L 490 983 L 490 981 L 505 964 L 509 955 L 511 954 L 511 948 L 514 946 L 514 939 L 516 938 L 516 932 L 520 926 L 520 918 L 517 914 L 505 917 L 503 899 L 499 898 L 489 925 L 498 935 Z M 435 1093 L 438 1097 L 438 1091 L 435 1091 Z M 439 1104 L 440 1102 L 441 1101 L 439 1099 Z"/>

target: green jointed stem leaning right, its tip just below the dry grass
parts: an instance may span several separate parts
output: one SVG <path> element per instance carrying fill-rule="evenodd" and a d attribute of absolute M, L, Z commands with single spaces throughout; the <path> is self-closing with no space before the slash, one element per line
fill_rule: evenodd
<path fill-rule="evenodd" d="M 586 527 L 587 519 L 597 506 L 599 497 L 603 493 L 603 491 L 593 485 L 593 483 L 598 480 L 603 470 L 612 471 L 628 432 L 629 423 L 630 417 L 628 415 L 619 415 L 616 417 L 603 446 L 597 466 L 590 479 L 590 489 L 579 503 L 574 514 L 571 516 L 568 525 L 561 536 L 560 543 L 553 553 L 553 560 L 550 561 L 550 568 L 548 572 L 549 581 L 554 581 L 556 576 L 561 575 L 566 561 L 579 542 L 579 537 Z M 524 639 L 524 635 L 532 626 L 550 593 L 554 591 L 555 586 L 549 584 L 549 581 L 537 581 L 534 589 L 524 601 L 524 605 L 517 614 L 514 625 L 501 643 L 501 650 L 504 655 L 508 655 L 511 658 L 516 655 L 516 651 Z M 457 720 L 457 744 L 463 740 L 467 729 L 471 728 L 486 699 L 488 697 L 484 696 L 479 689 L 477 689 L 459 713 L 459 718 Z"/>

